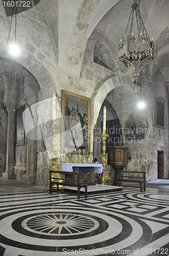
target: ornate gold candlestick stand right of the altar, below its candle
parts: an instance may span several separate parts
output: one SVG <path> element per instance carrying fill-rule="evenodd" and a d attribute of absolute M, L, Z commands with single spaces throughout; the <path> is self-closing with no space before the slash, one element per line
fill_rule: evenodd
<path fill-rule="evenodd" d="M 111 178 L 109 176 L 109 167 L 106 167 L 107 164 L 107 154 L 105 154 L 105 150 L 106 150 L 106 138 L 108 137 L 108 135 L 105 133 L 105 131 L 103 131 L 102 134 L 100 134 L 102 141 L 103 141 L 103 145 L 102 145 L 102 151 L 103 153 L 101 154 L 101 160 L 102 160 L 102 164 L 103 164 L 103 173 L 102 173 L 102 180 L 101 180 L 101 184 L 103 185 L 108 185 L 111 184 Z"/>

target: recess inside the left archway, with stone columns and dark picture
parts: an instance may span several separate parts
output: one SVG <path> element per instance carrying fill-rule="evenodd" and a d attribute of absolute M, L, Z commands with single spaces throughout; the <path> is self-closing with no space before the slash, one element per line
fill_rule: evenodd
<path fill-rule="evenodd" d="M 4 161 L 1 173 L 5 179 L 22 179 L 22 176 L 31 170 L 35 176 L 33 181 L 36 181 L 37 144 L 36 140 L 28 140 L 25 136 L 22 113 L 31 104 L 38 102 L 40 85 L 18 62 L 3 59 L 2 64 L 1 86 L 4 88 L 4 94 L 0 112 L 6 113 L 7 118 L 2 122 L 2 129 L 7 132 L 3 138 L 6 146 L 1 152 L 6 158 L 6 166 Z M 1 138 L 0 143 L 3 142 Z"/>

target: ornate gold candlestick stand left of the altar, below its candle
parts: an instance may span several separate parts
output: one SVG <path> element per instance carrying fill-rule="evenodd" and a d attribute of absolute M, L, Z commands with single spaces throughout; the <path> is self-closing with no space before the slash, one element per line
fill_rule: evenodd
<path fill-rule="evenodd" d="M 51 166 L 50 170 L 61 170 L 61 167 L 57 166 L 58 163 L 58 151 L 57 151 L 57 129 L 59 125 L 57 125 L 57 121 L 53 120 L 50 129 L 52 130 L 52 145 L 53 149 L 50 151 L 51 154 Z M 61 178 L 58 174 L 54 174 L 53 178 Z M 62 182 L 62 180 L 60 180 Z M 64 186 L 59 185 L 59 189 L 64 189 Z"/>

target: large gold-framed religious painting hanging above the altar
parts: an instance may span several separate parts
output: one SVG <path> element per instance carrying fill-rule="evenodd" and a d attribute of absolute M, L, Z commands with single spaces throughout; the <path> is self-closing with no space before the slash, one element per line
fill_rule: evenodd
<path fill-rule="evenodd" d="M 91 100 L 62 90 L 61 151 L 90 152 Z"/>

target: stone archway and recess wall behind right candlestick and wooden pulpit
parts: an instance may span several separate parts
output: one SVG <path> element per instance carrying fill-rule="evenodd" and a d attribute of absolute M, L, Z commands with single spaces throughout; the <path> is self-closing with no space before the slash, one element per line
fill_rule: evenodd
<path fill-rule="evenodd" d="M 99 84 L 97 89 L 93 95 L 95 114 L 99 116 L 99 112 L 102 112 L 103 102 L 107 100 L 116 112 L 122 135 L 122 140 L 117 140 L 117 143 L 129 147 L 130 162 L 125 168 L 147 171 L 148 140 L 153 137 L 153 120 L 148 104 L 144 110 L 138 109 L 137 103 L 140 95 L 134 94 L 135 85 L 125 76 L 109 78 L 103 84 Z M 93 119 L 93 128 L 98 120 L 95 118 L 96 116 Z M 100 123 L 98 124 L 100 129 L 102 129 L 101 119 L 100 116 Z M 113 127 L 111 127 L 112 129 Z M 97 157 L 101 161 L 101 140 L 99 145 L 94 145 L 94 155 L 96 148 L 98 148 L 96 154 L 99 155 Z"/>

